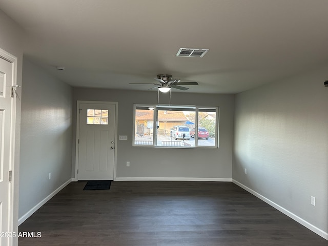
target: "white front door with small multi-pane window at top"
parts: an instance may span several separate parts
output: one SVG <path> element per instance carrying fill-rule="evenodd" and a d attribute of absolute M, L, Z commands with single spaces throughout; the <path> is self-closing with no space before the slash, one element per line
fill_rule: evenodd
<path fill-rule="evenodd" d="M 113 180 L 115 103 L 80 103 L 78 180 Z"/>

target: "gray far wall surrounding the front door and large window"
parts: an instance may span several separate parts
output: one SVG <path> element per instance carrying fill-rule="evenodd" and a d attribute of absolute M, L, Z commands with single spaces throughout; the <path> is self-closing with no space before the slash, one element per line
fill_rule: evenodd
<path fill-rule="evenodd" d="M 234 96 L 172 92 L 171 104 L 220 107 L 219 148 L 166 149 L 132 146 L 133 104 L 157 104 L 156 91 L 121 91 L 74 88 L 74 123 L 76 100 L 118 102 L 117 135 L 128 135 L 128 141 L 117 143 L 117 177 L 142 178 L 230 178 L 232 177 L 232 138 Z M 160 94 L 160 104 L 168 104 L 169 94 Z M 74 129 L 74 133 L 76 130 Z M 75 136 L 74 136 L 75 137 Z M 75 156 L 75 146 L 73 147 Z M 126 162 L 130 161 L 130 167 Z M 73 173 L 75 163 L 73 161 Z"/>

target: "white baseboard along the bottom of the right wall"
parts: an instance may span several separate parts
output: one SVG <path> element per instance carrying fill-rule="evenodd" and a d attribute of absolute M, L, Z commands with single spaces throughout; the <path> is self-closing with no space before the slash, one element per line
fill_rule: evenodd
<path fill-rule="evenodd" d="M 279 210 L 281 213 L 287 215 L 288 217 L 294 219 L 298 223 L 302 224 L 302 226 L 310 229 L 314 233 L 318 234 L 319 236 L 323 237 L 324 239 L 328 240 L 328 233 L 315 227 L 313 224 L 309 223 L 308 221 L 300 218 L 296 214 L 293 214 L 292 212 L 282 208 L 277 203 L 269 200 L 268 198 L 262 196 L 261 194 L 257 193 L 256 191 L 248 188 L 247 186 L 244 186 L 242 183 L 238 182 L 237 180 L 232 179 L 232 182 L 235 183 L 237 186 L 241 187 L 242 189 L 248 191 L 249 193 L 253 194 L 254 196 L 260 198 L 262 201 L 268 203 L 270 206 L 274 207 L 275 209 Z"/>

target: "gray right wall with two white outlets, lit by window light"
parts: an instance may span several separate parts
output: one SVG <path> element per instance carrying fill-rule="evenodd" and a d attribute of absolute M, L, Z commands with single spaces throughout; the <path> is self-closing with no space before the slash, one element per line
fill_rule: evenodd
<path fill-rule="evenodd" d="M 237 94 L 233 162 L 234 180 L 326 233 L 327 71 Z"/>

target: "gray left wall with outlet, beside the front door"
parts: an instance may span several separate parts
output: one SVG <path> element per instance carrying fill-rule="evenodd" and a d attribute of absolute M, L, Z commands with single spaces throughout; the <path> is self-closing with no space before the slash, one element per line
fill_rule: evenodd
<path fill-rule="evenodd" d="M 72 162 L 72 88 L 25 58 L 23 83 L 19 217 L 71 179 Z"/>

